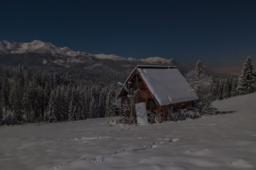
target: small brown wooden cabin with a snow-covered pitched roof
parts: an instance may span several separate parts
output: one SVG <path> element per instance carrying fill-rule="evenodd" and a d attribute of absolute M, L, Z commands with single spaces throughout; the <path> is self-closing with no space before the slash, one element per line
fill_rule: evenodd
<path fill-rule="evenodd" d="M 146 109 L 163 113 L 166 117 L 170 108 L 193 106 L 199 99 L 189 90 L 189 84 L 176 66 L 138 65 L 124 83 L 127 89 L 139 89 L 135 95 L 135 103 L 146 103 Z M 127 100 L 124 88 L 119 91 L 118 98 Z"/>

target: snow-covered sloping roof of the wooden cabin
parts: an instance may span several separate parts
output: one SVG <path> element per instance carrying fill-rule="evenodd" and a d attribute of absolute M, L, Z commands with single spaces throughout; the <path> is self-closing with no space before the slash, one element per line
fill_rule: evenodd
<path fill-rule="evenodd" d="M 137 70 L 160 106 L 199 99 L 175 66 L 138 65 Z"/>

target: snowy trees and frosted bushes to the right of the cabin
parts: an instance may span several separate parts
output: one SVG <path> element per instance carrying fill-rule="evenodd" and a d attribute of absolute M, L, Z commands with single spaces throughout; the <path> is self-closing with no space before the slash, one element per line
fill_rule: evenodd
<path fill-rule="evenodd" d="M 198 60 L 195 69 L 190 70 L 185 78 L 191 86 L 191 91 L 199 97 L 195 103 L 195 109 L 188 113 L 194 117 L 216 114 L 215 108 L 212 107 L 213 100 L 256 92 L 256 70 L 250 56 L 247 57 L 239 76 L 209 77 L 203 71 L 202 62 Z M 187 110 L 183 112 L 187 112 Z"/>

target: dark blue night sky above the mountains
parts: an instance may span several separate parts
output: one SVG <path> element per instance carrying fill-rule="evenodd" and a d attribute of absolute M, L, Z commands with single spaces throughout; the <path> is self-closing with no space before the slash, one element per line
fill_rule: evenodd
<path fill-rule="evenodd" d="M 92 54 L 241 66 L 256 60 L 256 1 L 0 0 L 0 40 Z M 255 58 L 255 59 L 254 59 Z"/>

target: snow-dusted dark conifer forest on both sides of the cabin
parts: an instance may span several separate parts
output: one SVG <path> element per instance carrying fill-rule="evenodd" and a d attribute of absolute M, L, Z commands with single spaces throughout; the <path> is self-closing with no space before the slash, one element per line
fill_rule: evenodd
<path fill-rule="evenodd" d="M 203 73 L 201 61 L 194 72 Z M 23 122 L 62 122 L 116 115 L 116 95 L 131 70 L 63 69 L 45 67 L 0 67 L 0 125 Z M 256 91 L 256 71 L 249 56 L 241 75 L 212 76 L 203 73 L 201 81 L 185 75 L 203 100 L 222 100 Z M 190 80 L 191 79 L 191 80 Z M 206 85 L 199 82 L 207 79 Z M 204 86 L 204 87 L 203 87 Z M 206 90 L 207 89 L 207 90 Z M 122 114 L 122 113 L 121 113 Z"/>

